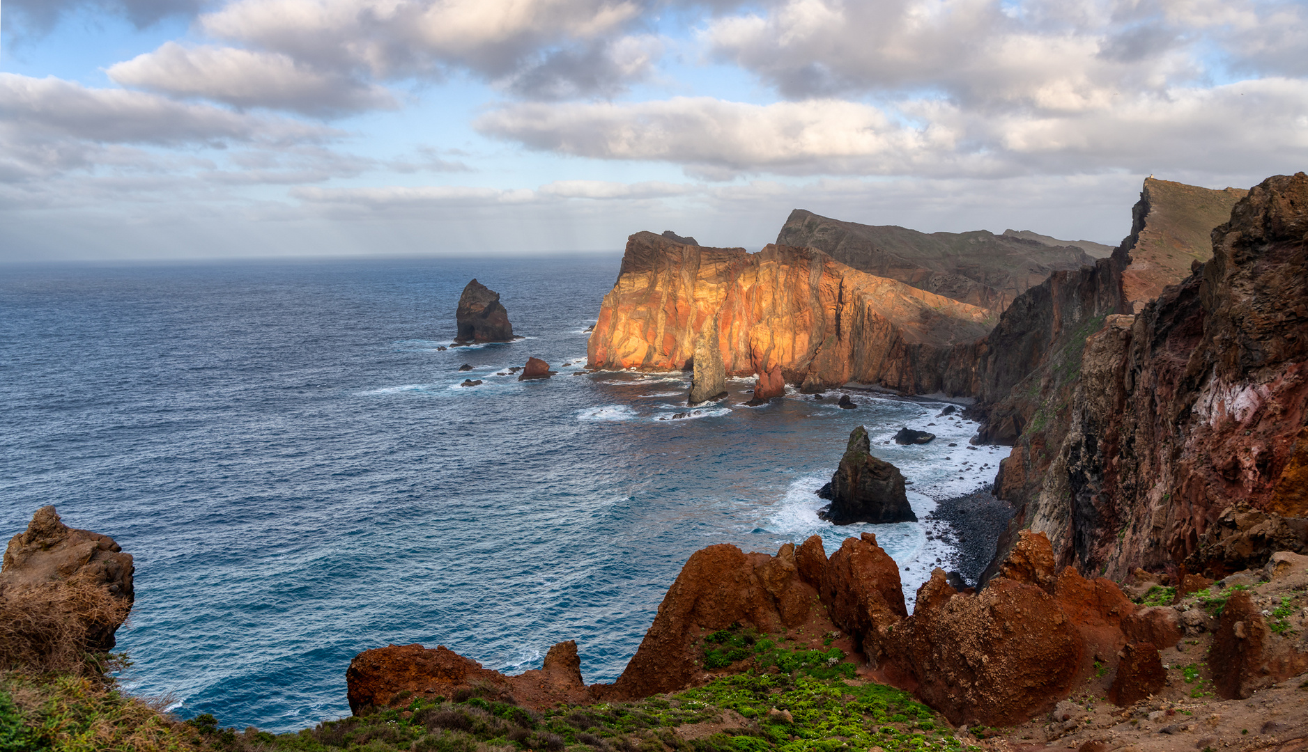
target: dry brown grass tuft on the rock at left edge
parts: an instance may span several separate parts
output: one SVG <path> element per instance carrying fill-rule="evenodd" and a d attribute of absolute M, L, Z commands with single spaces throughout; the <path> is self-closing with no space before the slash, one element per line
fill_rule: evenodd
<path fill-rule="evenodd" d="M 98 674 L 88 657 L 127 617 L 131 604 L 85 578 L 0 585 L 0 668 Z"/>

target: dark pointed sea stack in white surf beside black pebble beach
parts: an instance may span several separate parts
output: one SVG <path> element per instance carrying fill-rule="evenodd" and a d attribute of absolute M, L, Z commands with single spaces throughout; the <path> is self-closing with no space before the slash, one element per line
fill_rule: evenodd
<path fill-rule="evenodd" d="M 836 524 L 917 522 L 904 492 L 904 476 L 893 464 L 871 455 L 863 426 L 849 433 L 840 468 L 818 496 L 831 500 L 818 517 Z"/>

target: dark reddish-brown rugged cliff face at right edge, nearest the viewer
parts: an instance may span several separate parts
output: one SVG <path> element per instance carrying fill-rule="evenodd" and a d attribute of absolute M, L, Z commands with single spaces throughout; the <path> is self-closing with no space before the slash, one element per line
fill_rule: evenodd
<path fill-rule="evenodd" d="M 1308 515 L 1305 233 L 1308 175 L 1269 178 L 1213 230 L 1202 271 L 1087 337 L 1078 377 L 1046 394 L 1066 402 L 1042 404 L 1001 466 L 1015 527 L 1121 577 L 1181 562 L 1233 504 Z M 1056 421 L 1061 436 L 1044 430 Z"/>

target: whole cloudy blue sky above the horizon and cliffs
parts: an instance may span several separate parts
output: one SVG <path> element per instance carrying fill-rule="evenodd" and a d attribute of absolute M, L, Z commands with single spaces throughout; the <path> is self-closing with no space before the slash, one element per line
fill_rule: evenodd
<path fill-rule="evenodd" d="M 1116 245 L 1308 169 L 1308 3 L 9 0 L 0 260 Z"/>

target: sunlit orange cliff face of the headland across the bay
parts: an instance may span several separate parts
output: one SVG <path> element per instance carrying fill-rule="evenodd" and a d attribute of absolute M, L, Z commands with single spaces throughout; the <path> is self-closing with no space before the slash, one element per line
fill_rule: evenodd
<path fill-rule="evenodd" d="M 589 367 L 681 370 L 717 322 L 731 375 L 776 371 L 808 388 L 850 381 L 963 394 L 989 314 L 867 275 L 814 248 L 708 248 L 637 233 L 604 296 Z"/>

